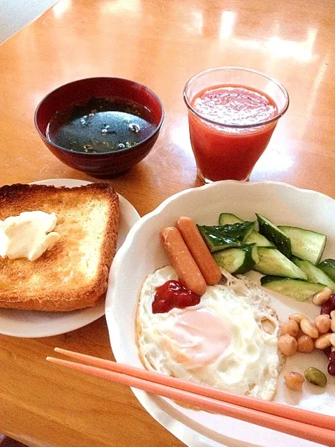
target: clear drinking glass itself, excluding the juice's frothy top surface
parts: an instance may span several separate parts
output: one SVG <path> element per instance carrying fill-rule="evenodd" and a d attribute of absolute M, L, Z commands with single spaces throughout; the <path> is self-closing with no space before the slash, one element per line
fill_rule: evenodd
<path fill-rule="evenodd" d="M 260 114 L 253 124 L 240 124 L 231 115 L 219 113 L 217 119 L 209 119 L 196 110 L 195 99 L 204 91 L 220 87 L 244 87 L 262 94 L 275 106 L 275 112 L 267 119 Z M 278 81 L 259 71 L 234 66 L 209 68 L 193 76 L 184 88 L 184 101 L 198 175 L 205 183 L 248 180 L 289 104 L 288 92 Z"/>

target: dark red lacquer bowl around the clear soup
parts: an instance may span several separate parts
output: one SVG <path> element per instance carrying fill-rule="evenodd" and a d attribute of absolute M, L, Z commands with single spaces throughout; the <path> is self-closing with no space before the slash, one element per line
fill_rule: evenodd
<path fill-rule="evenodd" d="M 74 152 L 47 139 L 47 125 L 56 112 L 71 105 L 86 103 L 94 97 L 135 101 L 150 110 L 156 128 L 149 137 L 133 147 L 103 154 Z M 62 85 L 47 94 L 36 108 L 35 126 L 47 148 L 63 163 L 93 177 L 107 178 L 132 168 L 149 154 L 158 138 L 163 117 L 164 109 L 160 99 L 144 85 L 121 78 L 87 78 Z"/>

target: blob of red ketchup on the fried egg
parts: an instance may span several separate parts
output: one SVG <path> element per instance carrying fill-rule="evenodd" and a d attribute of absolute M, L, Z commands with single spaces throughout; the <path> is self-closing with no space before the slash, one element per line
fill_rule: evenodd
<path fill-rule="evenodd" d="M 174 307 L 184 309 L 199 303 L 200 296 L 188 290 L 180 281 L 166 281 L 163 286 L 156 288 L 155 299 L 152 303 L 152 313 L 163 314 L 169 312 Z"/>

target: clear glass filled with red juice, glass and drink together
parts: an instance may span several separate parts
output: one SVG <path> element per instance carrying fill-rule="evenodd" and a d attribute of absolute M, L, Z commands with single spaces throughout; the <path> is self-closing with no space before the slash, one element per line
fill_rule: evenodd
<path fill-rule="evenodd" d="M 214 80 L 209 79 L 213 75 Z M 220 78 L 241 83 L 214 83 Z M 207 82 L 213 83 L 208 87 Z M 184 98 L 191 145 L 204 182 L 248 179 L 288 108 L 284 87 L 247 68 L 214 68 L 195 75 L 186 84 Z"/>

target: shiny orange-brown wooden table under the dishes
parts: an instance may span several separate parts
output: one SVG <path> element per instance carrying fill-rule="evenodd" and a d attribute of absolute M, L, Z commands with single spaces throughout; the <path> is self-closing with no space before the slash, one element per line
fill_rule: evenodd
<path fill-rule="evenodd" d="M 332 17 L 332 0 L 60 0 L 0 47 L 0 183 L 87 179 L 45 148 L 36 105 L 71 80 L 130 78 L 156 91 L 166 113 L 151 154 L 111 180 L 146 214 L 200 184 L 181 97 L 186 80 L 237 65 L 273 75 L 291 101 L 251 180 L 335 197 Z M 34 447 L 181 446 L 128 388 L 45 362 L 56 345 L 113 358 L 105 318 L 59 337 L 1 336 L 0 432 Z"/>

